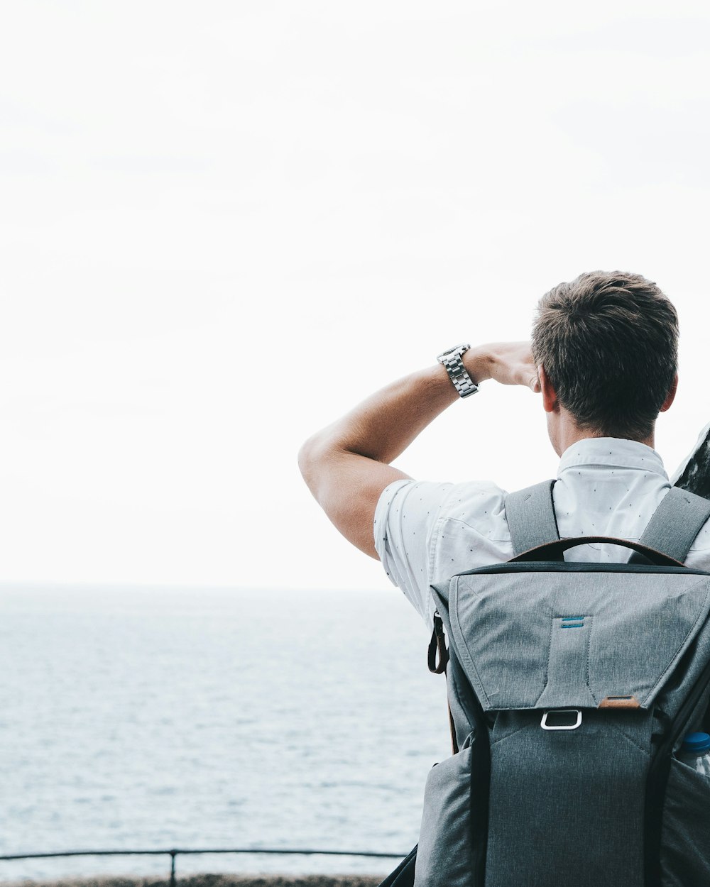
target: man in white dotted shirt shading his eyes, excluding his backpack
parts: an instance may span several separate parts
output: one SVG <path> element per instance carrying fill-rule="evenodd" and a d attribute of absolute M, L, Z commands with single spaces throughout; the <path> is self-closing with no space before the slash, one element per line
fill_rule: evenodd
<path fill-rule="evenodd" d="M 532 342 L 450 349 L 312 436 L 299 454 L 301 471 L 337 529 L 382 561 L 431 624 L 430 585 L 512 557 L 505 491 L 414 482 L 390 462 L 481 382 L 525 385 L 540 394 L 561 457 L 553 488 L 560 536 L 637 540 L 670 488 L 653 445 L 659 412 L 675 396 L 677 341 L 675 308 L 654 283 L 618 271 L 582 274 L 542 297 Z M 566 555 L 625 556 L 605 545 Z M 686 562 L 710 569 L 707 527 Z"/>

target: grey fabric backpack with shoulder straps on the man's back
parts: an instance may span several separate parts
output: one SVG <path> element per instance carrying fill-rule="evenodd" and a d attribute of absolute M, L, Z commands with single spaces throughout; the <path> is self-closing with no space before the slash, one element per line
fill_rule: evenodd
<path fill-rule="evenodd" d="M 710 502 L 673 488 L 638 544 L 560 540 L 553 483 L 507 498 L 511 561 L 432 586 L 458 750 L 414 885 L 707 887 L 710 780 L 674 754 L 710 695 L 710 573 L 682 566 Z M 564 561 L 610 542 L 635 553 Z"/>

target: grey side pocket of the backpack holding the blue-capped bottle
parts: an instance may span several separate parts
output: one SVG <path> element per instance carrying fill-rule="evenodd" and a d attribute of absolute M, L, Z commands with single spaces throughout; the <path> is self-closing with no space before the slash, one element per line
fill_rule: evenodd
<path fill-rule="evenodd" d="M 710 884 L 710 780 L 671 762 L 661 836 L 663 887 Z"/>

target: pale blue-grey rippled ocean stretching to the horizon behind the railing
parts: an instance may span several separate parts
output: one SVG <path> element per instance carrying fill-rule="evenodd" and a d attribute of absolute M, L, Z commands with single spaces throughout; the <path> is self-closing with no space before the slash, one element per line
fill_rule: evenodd
<path fill-rule="evenodd" d="M 0 855 L 406 852 L 449 753 L 445 681 L 397 591 L 0 588 Z M 177 872 L 397 860 L 178 857 Z M 0 861 L 0 882 L 167 857 Z"/>

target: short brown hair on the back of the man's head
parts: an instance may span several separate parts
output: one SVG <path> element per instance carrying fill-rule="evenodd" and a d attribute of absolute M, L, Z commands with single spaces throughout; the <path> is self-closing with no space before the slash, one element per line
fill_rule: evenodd
<path fill-rule="evenodd" d="M 580 274 L 540 299 L 533 359 L 580 428 L 640 440 L 675 378 L 678 315 L 640 274 Z"/>

